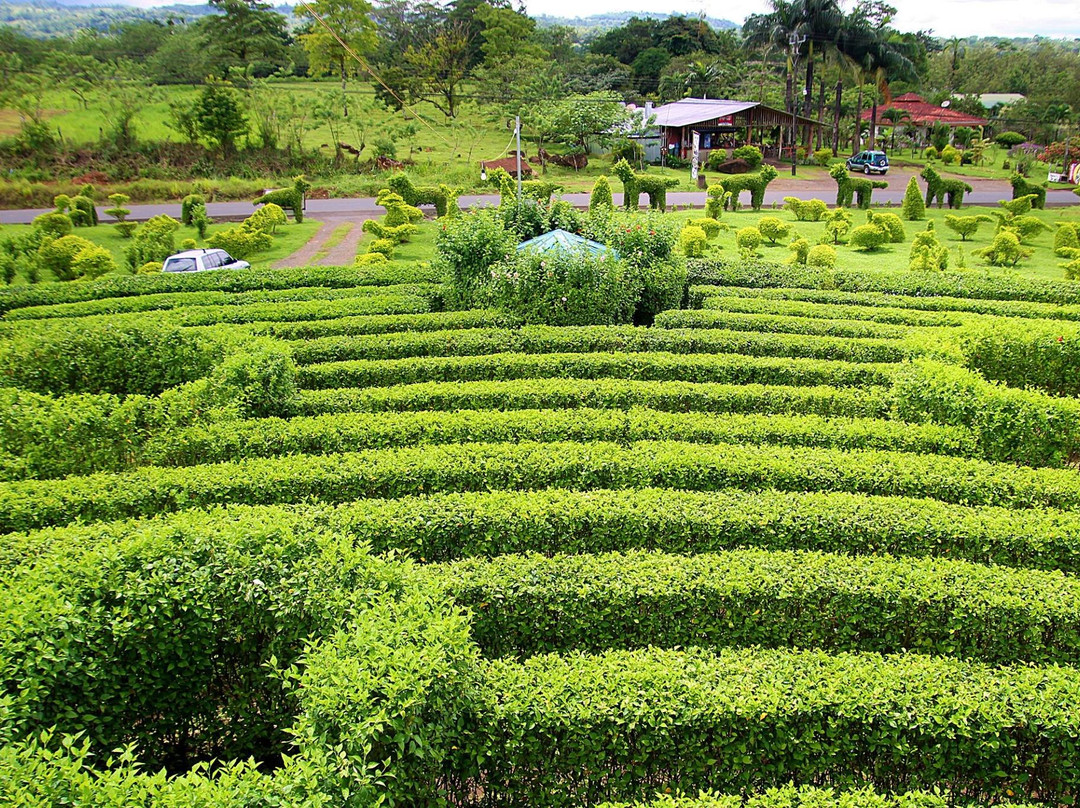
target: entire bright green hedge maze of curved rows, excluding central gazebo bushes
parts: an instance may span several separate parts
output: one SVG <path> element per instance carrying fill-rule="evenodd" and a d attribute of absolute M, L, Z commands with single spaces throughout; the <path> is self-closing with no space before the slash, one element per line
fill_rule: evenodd
<path fill-rule="evenodd" d="M 688 272 L 0 291 L 0 799 L 1074 804 L 1078 287 Z"/>

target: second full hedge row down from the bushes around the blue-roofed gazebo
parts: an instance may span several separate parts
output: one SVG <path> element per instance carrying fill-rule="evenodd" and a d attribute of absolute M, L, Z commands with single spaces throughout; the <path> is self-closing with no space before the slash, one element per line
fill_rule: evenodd
<path fill-rule="evenodd" d="M 725 385 L 869 387 L 888 385 L 897 365 L 739 354 L 492 353 L 357 360 L 299 368 L 301 388 L 388 387 L 419 381 L 576 378 L 692 381 Z"/>

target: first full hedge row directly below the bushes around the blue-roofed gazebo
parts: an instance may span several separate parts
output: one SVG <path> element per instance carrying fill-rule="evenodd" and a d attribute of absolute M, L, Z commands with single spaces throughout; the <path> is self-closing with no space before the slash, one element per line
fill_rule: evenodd
<path fill-rule="evenodd" d="M 900 362 L 910 351 L 897 340 L 757 334 L 706 328 L 529 325 L 523 328 L 471 328 L 447 332 L 325 337 L 293 345 L 300 364 L 357 359 L 459 356 L 488 353 L 739 353 L 845 362 Z"/>

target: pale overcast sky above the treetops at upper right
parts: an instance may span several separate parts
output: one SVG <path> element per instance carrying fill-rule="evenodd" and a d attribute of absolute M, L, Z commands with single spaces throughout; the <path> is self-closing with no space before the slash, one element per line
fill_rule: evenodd
<path fill-rule="evenodd" d="M 677 12 L 741 24 L 767 10 L 765 0 L 526 0 L 529 14 L 583 16 L 612 11 Z M 853 4 L 851 0 L 846 8 Z M 893 25 L 906 31 L 933 29 L 940 37 L 1080 37 L 1080 0 L 892 0 L 900 9 Z"/>

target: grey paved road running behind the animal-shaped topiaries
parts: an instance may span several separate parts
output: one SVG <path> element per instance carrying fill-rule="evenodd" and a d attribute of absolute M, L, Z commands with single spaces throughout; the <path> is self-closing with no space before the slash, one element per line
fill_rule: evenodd
<path fill-rule="evenodd" d="M 897 176 L 895 178 L 889 177 L 889 188 L 874 192 L 874 201 L 892 202 L 894 205 L 899 205 L 904 199 L 904 188 L 906 186 L 907 178 Z M 816 197 L 819 199 L 824 199 L 829 204 L 832 204 L 833 200 L 836 198 L 836 186 L 833 185 L 832 181 L 827 185 L 822 183 L 801 183 L 798 187 L 792 187 L 792 181 L 787 179 L 786 181 L 775 181 L 773 185 L 779 187 L 766 191 L 766 205 L 771 205 L 773 202 L 781 204 L 784 197 L 799 197 L 801 199 L 812 199 Z M 785 185 L 788 187 L 785 188 Z M 967 204 L 997 206 L 999 199 L 1009 199 L 1012 196 L 1012 188 L 1010 188 L 1008 183 L 1001 180 L 975 180 L 972 185 L 975 190 L 964 198 L 964 202 Z M 578 207 L 589 206 L 588 193 L 564 193 L 563 199 L 568 200 L 571 204 Z M 748 193 L 744 193 L 743 202 L 745 203 L 747 200 Z M 472 205 L 494 205 L 498 204 L 498 202 L 499 198 L 495 194 L 461 197 L 458 200 L 458 203 L 462 207 L 471 207 Z M 617 205 L 622 204 L 621 193 L 615 194 L 615 202 Z M 1075 205 L 1078 202 L 1080 202 L 1080 200 L 1078 200 L 1076 194 L 1071 191 L 1049 191 L 1047 193 L 1048 205 L 1067 206 Z M 667 194 L 667 204 L 704 207 L 705 193 L 704 191 L 672 192 Z M 39 216 L 42 213 L 50 213 L 51 210 L 52 208 L 0 211 L 0 224 L 28 225 L 35 216 Z M 219 220 L 240 220 L 251 216 L 252 211 L 254 210 L 255 208 L 251 202 L 211 202 L 206 205 L 206 212 L 211 215 L 211 217 Z M 99 207 L 97 212 L 103 221 L 111 220 L 105 215 L 104 207 Z M 174 202 L 160 205 L 132 205 L 131 212 L 132 214 L 129 218 L 137 221 L 146 220 L 151 216 L 158 216 L 159 214 L 167 214 L 170 216 L 178 217 L 180 215 L 180 204 L 179 202 Z M 374 199 L 366 197 L 356 199 L 312 199 L 308 200 L 308 207 L 306 211 L 306 215 L 314 219 L 327 215 L 335 218 L 352 216 L 357 220 L 362 220 L 375 216 L 381 216 L 383 213 L 386 212 L 375 204 Z"/>

